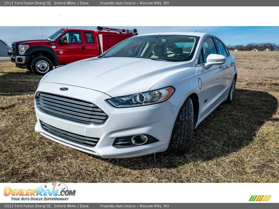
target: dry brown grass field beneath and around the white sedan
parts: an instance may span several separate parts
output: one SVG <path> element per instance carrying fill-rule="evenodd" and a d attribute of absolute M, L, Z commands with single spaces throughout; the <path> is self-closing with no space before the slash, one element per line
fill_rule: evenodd
<path fill-rule="evenodd" d="M 0 182 L 279 182 L 279 52 L 232 52 L 235 100 L 196 130 L 191 150 L 102 159 L 34 131 L 40 80 L 0 63 Z"/>

